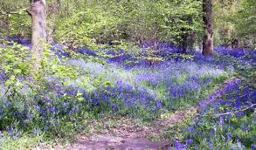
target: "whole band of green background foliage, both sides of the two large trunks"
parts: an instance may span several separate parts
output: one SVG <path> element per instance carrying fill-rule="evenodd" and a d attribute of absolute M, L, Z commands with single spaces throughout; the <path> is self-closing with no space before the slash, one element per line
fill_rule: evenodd
<path fill-rule="evenodd" d="M 77 4 L 79 3 L 79 4 Z M 254 48 L 255 3 L 253 0 L 214 1 L 215 44 Z M 25 10 L 29 1 L 4 0 L 0 3 L 1 37 L 31 37 L 31 18 Z M 201 1 L 47 1 L 48 36 L 70 48 L 80 45 L 167 41 L 179 44 L 187 33 L 190 43 L 203 38 Z"/>

